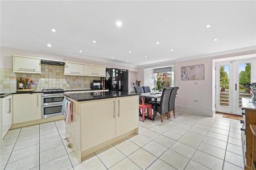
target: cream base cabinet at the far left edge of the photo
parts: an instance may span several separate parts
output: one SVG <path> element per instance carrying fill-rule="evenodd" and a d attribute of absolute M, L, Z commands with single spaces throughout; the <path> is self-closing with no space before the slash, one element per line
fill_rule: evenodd
<path fill-rule="evenodd" d="M 12 95 L 2 98 L 1 101 L 1 131 L 0 146 L 3 144 L 3 138 L 13 124 L 13 100 Z"/>

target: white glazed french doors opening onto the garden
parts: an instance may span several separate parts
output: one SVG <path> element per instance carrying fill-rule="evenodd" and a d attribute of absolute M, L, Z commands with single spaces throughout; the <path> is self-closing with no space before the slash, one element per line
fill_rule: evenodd
<path fill-rule="evenodd" d="M 243 87 L 256 80 L 256 59 L 216 64 L 216 111 L 241 115 L 241 98 L 250 97 Z"/>

